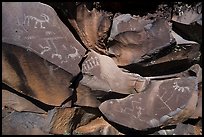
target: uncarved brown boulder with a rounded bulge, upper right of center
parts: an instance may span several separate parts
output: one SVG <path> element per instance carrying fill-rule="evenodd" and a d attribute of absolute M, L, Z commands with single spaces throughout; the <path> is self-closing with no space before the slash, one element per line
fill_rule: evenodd
<path fill-rule="evenodd" d="M 108 51 L 119 66 L 137 63 L 174 43 L 169 31 L 169 24 L 161 18 L 118 15 L 113 19 Z"/>

